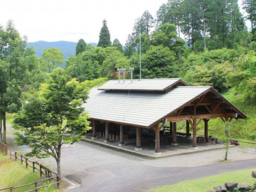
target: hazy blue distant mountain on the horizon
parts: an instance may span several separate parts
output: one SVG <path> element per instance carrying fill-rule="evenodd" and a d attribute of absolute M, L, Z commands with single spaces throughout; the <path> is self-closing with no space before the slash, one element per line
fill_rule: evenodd
<path fill-rule="evenodd" d="M 87 43 L 92 46 L 97 46 L 97 43 Z M 47 41 L 36 41 L 27 43 L 27 47 L 33 47 L 36 50 L 36 55 L 38 58 L 43 54 L 43 50 L 46 48 L 58 48 L 63 53 L 64 61 L 70 57 L 70 55 L 75 55 L 75 47 L 77 43 L 69 41 L 56 41 L 56 42 L 47 42 Z"/>

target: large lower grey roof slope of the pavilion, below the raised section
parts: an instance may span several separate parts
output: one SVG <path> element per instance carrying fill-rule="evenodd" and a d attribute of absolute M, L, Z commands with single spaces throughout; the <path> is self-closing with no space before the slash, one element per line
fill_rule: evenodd
<path fill-rule="evenodd" d="M 147 84 L 151 86 L 149 82 Z M 169 92 L 118 92 L 98 90 L 95 87 L 90 90 L 90 98 L 82 106 L 92 119 L 150 127 L 209 89 L 210 87 L 178 86 Z"/>

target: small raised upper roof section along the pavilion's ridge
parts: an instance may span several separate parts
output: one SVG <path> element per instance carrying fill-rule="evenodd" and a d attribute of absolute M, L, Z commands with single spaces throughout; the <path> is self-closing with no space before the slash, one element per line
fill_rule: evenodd
<path fill-rule="evenodd" d="M 132 91 L 164 91 L 174 85 L 187 85 L 180 78 L 142 79 L 142 80 L 110 80 L 98 90 L 132 90 Z"/>

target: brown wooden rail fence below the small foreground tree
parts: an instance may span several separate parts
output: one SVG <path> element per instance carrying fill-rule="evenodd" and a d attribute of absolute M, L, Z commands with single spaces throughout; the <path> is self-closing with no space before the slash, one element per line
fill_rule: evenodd
<path fill-rule="evenodd" d="M 0 188 L 0 191 L 4 191 L 4 190 L 9 190 L 9 191 L 14 191 L 17 188 L 23 188 L 26 186 L 34 186 L 33 189 L 26 191 L 26 192 L 31 192 L 31 191 L 39 191 L 40 188 L 44 188 L 46 186 L 52 186 L 52 185 L 57 185 L 57 187 L 59 188 L 60 186 L 60 178 L 58 176 L 58 174 L 56 174 L 55 172 L 51 171 L 50 169 L 48 169 L 46 166 L 43 166 L 42 164 L 39 164 L 37 161 L 31 161 L 30 159 L 26 158 L 25 156 L 23 156 L 23 154 L 18 154 L 17 151 L 14 150 L 10 150 L 10 157 L 11 159 L 14 159 L 15 161 L 21 161 L 21 164 L 24 164 L 26 166 L 26 168 L 28 169 L 28 167 L 31 167 L 33 169 L 33 172 L 35 172 L 36 170 L 39 171 L 40 176 L 46 176 L 46 178 L 40 179 L 38 181 L 34 181 L 33 183 L 28 183 L 22 186 L 11 186 L 8 188 Z M 38 186 L 38 183 L 43 183 L 46 181 L 52 181 L 53 183 L 49 183 L 48 185 L 43 185 L 43 186 Z"/>

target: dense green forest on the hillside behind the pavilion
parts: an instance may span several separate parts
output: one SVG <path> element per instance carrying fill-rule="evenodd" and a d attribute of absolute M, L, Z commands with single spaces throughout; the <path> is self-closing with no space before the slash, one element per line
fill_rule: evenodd
<path fill-rule="evenodd" d="M 179 77 L 189 85 L 213 86 L 248 117 L 231 122 L 230 136 L 256 141 L 253 123 L 256 120 L 256 0 L 243 0 L 242 6 L 246 17 L 241 14 L 237 0 L 166 1 L 153 13 L 156 17 L 144 11 L 136 19 L 124 50 L 117 38 L 110 41 L 111 31 L 104 20 L 97 47 L 80 39 L 75 54 L 65 60 L 65 70 L 79 82 L 116 79 L 117 68 L 129 67 L 134 68 L 134 76 L 139 78 L 140 28 L 142 78 Z M 250 29 L 245 20 L 250 21 Z M 8 23 L 6 28 L 0 28 L 0 36 L 8 36 L 11 30 L 16 29 L 13 23 Z M 14 49 L 5 51 L 5 42 L 0 42 L 0 50 L 4 50 L 0 55 L 0 70 L 7 76 L 1 80 L 6 88 L 0 90 L 3 117 L 6 112 L 17 112 L 22 100 L 37 91 L 39 85 L 49 80 L 49 74 L 63 64 L 63 53 L 57 48 L 43 50 L 37 58 L 33 49 L 23 50 L 26 42 L 17 31 L 16 34 L 15 39 L 10 37 L 16 43 L 9 45 L 17 46 L 19 42 L 15 50 L 19 54 L 11 59 L 9 53 Z M 18 75 L 14 76 L 7 73 L 14 70 L 11 67 L 14 59 L 19 60 L 26 72 L 26 80 L 20 70 L 15 70 L 14 74 Z M 211 120 L 210 134 L 224 134 L 223 126 L 222 121 Z"/>

